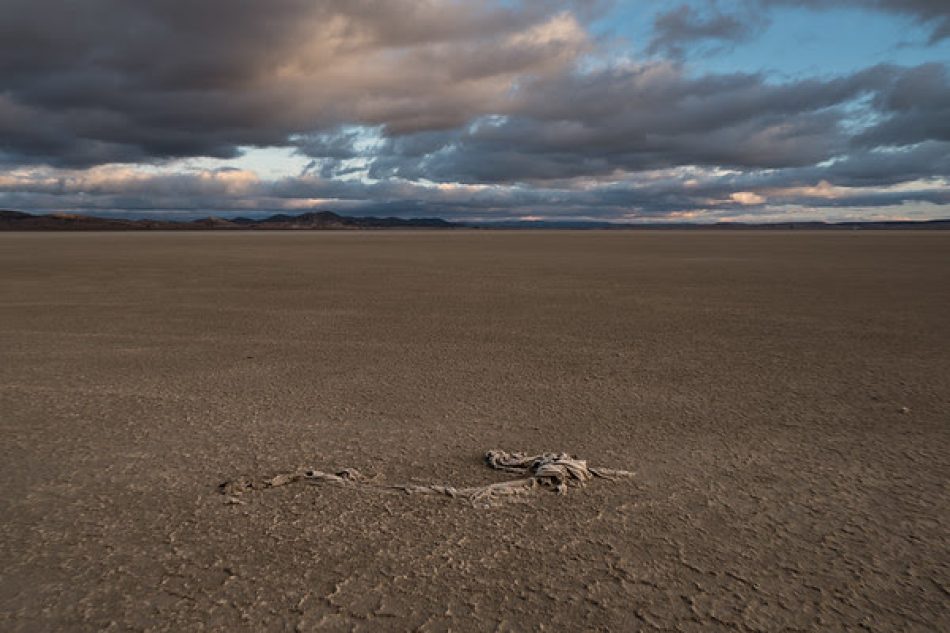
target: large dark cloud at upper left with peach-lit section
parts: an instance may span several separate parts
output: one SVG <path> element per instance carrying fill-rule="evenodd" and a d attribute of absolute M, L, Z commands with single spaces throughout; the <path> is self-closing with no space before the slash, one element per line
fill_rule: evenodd
<path fill-rule="evenodd" d="M 0 151 L 85 166 L 229 157 L 350 122 L 460 125 L 588 45 L 578 3 L 509 4 L 4 0 Z"/>

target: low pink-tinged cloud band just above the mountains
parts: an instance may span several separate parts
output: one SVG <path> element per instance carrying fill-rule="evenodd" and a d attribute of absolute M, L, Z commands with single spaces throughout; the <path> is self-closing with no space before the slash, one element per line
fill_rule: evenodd
<path fill-rule="evenodd" d="M 911 162 L 942 156 L 950 144 L 903 150 Z M 865 209 L 904 203 L 950 206 L 945 177 L 905 172 L 890 184 L 876 180 L 875 157 L 845 160 L 828 168 L 724 172 L 677 167 L 629 174 L 609 182 L 575 179 L 534 187 L 422 184 L 408 181 L 339 180 L 303 174 L 268 181 L 244 170 L 161 170 L 100 167 L 88 170 L 21 168 L 0 177 L 0 206 L 25 210 L 76 210 L 192 217 L 209 212 L 259 215 L 328 208 L 351 214 L 510 219 L 538 215 L 615 221 L 691 217 L 713 220 L 749 209 Z M 878 159 L 880 157 L 877 157 Z M 862 168 L 869 170 L 861 175 Z M 825 178 L 830 178 L 826 180 Z"/>

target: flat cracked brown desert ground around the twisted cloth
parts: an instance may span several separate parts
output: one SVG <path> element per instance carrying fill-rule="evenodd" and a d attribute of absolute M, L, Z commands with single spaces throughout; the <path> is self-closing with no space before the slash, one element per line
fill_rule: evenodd
<path fill-rule="evenodd" d="M 948 325 L 950 233 L 0 235 L 0 630 L 947 630 Z M 493 447 L 638 475 L 216 488 Z"/>

